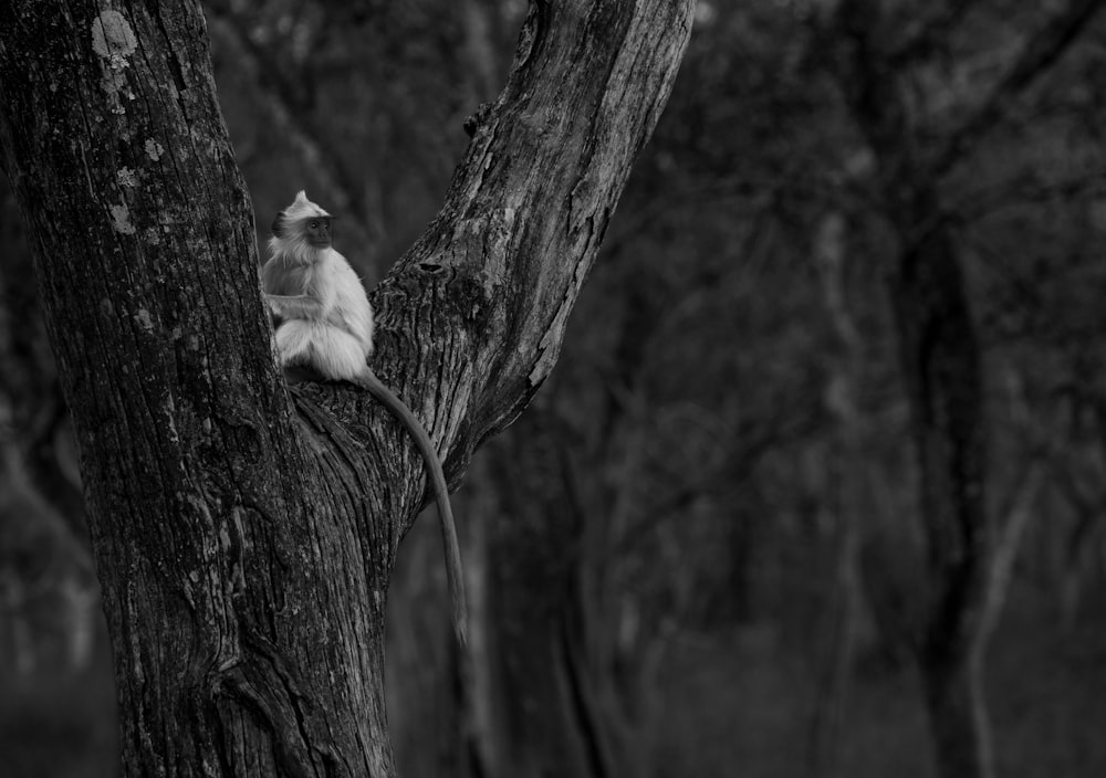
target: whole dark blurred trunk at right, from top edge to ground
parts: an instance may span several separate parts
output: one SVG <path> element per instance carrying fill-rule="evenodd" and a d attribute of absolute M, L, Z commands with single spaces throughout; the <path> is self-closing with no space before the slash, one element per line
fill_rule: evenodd
<path fill-rule="evenodd" d="M 901 73 L 880 38 L 883 4 L 845 0 L 836 10 L 832 59 L 875 156 L 874 199 L 897 239 L 891 308 L 919 473 L 926 580 L 910 630 L 942 778 L 992 775 L 980 667 L 990 622 L 992 532 L 980 348 L 954 235 L 937 175 L 905 99 Z M 886 566 L 890 567 L 894 563 Z"/>

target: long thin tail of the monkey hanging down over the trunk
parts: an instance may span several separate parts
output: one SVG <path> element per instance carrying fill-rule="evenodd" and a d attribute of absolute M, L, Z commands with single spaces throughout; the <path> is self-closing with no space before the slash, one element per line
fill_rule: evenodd
<path fill-rule="evenodd" d="M 453 609 L 453 632 L 457 642 L 463 649 L 468 643 L 468 606 L 465 602 L 465 578 L 461 572 L 461 547 L 457 542 L 457 525 L 453 523 L 453 509 L 449 505 L 449 490 L 446 486 L 446 475 L 441 472 L 441 462 L 438 460 L 438 452 L 430 443 L 430 437 L 422 429 L 415 414 L 404 404 L 396 395 L 388 389 L 372 369 L 366 368 L 362 374 L 363 383 L 369 393 L 379 400 L 396 419 L 407 428 L 422 462 L 430 473 L 430 481 L 434 485 L 434 496 L 438 505 L 438 519 L 441 524 L 441 544 L 446 553 L 446 577 L 449 584 L 449 599 Z"/>

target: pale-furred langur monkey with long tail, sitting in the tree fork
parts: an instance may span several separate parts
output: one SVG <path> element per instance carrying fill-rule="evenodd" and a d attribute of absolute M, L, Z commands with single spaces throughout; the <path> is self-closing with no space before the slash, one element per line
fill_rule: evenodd
<path fill-rule="evenodd" d="M 281 366 L 292 378 L 306 369 L 367 389 L 415 439 L 438 504 L 453 631 L 463 648 L 468 620 L 465 580 L 441 462 L 410 409 L 366 364 L 373 353 L 373 307 L 353 267 L 331 248 L 331 218 L 301 191 L 273 222 L 270 257 L 261 269 L 261 282 L 275 318 Z"/>

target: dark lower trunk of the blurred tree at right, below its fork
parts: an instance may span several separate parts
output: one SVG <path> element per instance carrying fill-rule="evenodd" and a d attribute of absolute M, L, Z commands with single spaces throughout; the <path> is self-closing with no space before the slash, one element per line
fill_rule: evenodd
<path fill-rule="evenodd" d="M 993 542 L 979 344 L 956 251 L 946 227 L 932 229 L 905 253 L 893 301 L 929 556 L 918 667 L 937 764 L 945 778 L 987 778 L 993 759 L 980 671 Z"/>

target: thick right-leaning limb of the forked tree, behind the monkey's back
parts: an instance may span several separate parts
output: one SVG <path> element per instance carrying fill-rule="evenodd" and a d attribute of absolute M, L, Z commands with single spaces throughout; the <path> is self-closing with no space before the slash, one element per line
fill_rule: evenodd
<path fill-rule="evenodd" d="M 455 398 L 451 418 L 431 425 L 444 433 L 452 422 L 462 434 L 451 448 L 463 459 L 510 423 L 552 370 L 629 161 L 675 76 L 675 67 L 644 65 L 678 61 L 686 11 L 651 0 L 535 3 L 508 86 L 474 128 L 438 219 L 373 296 L 385 375 L 403 364 L 421 380 L 446 382 L 413 393 Z M 641 93 L 641 78 L 648 98 L 633 104 L 625 96 Z M 417 278 L 428 286 L 420 301 L 411 296 Z M 420 348 L 400 345 L 393 329 L 431 337 Z M 435 344 L 451 344 L 457 361 L 442 364 L 449 355 L 434 353 Z"/>

